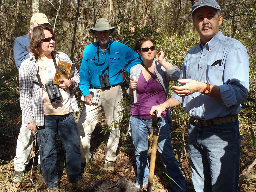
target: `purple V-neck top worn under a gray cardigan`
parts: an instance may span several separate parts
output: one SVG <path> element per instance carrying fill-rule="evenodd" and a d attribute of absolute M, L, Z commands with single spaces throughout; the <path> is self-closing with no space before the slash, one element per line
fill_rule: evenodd
<path fill-rule="evenodd" d="M 155 71 L 154 71 L 154 74 Z M 165 92 L 160 83 L 156 82 L 152 77 L 146 81 L 142 71 L 137 83 L 137 102 L 132 103 L 130 115 L 140 119 L 152 119 L 150 109 L 152 106 L 159 105 L 166 101 Z M 166 117 L 167 109 L 163 112 L 163 118 Z"/>

